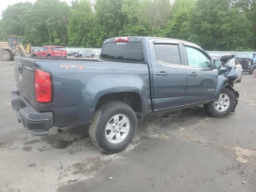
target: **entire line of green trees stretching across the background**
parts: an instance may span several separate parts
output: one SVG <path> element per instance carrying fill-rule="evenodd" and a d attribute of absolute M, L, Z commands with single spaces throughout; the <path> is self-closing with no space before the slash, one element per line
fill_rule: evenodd
<path fill-rule="evenodd" d="M 177 38 L 206 50 L 256 49 L 256 0 L 59 0 L 19 2 L 0 20 L 0 40 L 101 48 L 116 36 Z"/>

